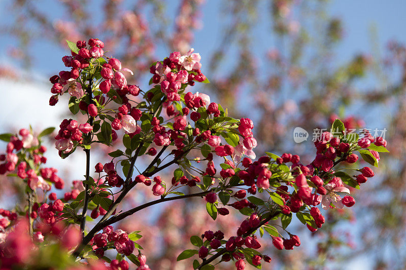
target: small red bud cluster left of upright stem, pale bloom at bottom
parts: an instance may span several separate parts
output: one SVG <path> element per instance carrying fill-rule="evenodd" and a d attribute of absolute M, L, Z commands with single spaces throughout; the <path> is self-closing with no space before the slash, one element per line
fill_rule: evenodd
<path fill-rule="evenodd" d="M 87 134 L 93 130 L 93 127 L 89 123 L 80 124 L 76 120 L 64 119 L 59 125 L 58 134 L 55 136 L 55 148 L 59 150 L 59 155 L 61 152 L 69 153 L 75 146 L 75 142 L 83 142 L 83 134 Z"/>

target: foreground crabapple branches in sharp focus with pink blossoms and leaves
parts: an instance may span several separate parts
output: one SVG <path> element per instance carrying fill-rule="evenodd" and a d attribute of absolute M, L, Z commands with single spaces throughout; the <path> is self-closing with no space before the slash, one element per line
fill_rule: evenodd
<path fill-rule="evenodd" d="M 262 238 L 266 231 L 277 249 L 299 246 L 299 237 L 287 230 L 293 213 L 315 232 L 325 223 L 319 205 L 323 211 L 352 207 L 355 199 L 342 194 L 350 194 L 350 188 L 359 188 L 374 176 L 369 167 L 358 167 L 357 153 L 364 162 L 378 166 L 379 152 L 387 152 L 387 142 L 382 137 L 373 138 L 367 131 L 360 134 L 361 138 L 347 136 L 344 124 L 337 119 L 331 130 L 339 131 L 339 136 L 324 132 L 315 142 L 316 155 L 309 164 L 291 153 L 278 156 L 266 152 L 256 159 L 253 121 L 229 117 L 227 109 L 211 102 L 208 95 L 189 91 L 195 82 L 209 82 L 201 72 L 200 55 L 193 49 L 184 55 L 174 52 L 152 64 L 152 87 L 143 91 L 127 83 L 123 72 L 132 72 L 122 68 L 118 59 L 105 56 L 103 42 L 91 38 L 87 43 L 68 42 L 68 45 L 72 56 L 64 56 L 62 61 L 71 70 L 50 78 L 53 83 L 50 104 L 55 105 L 58 97 L 67 92 L 71 112 L 81 112 L 87 121 L 79 124 L 64 119 L 54 136 L 55 147 L 62 158 L 77 147 L 84 148 L 85 179 L 73 181 L 72 190 L 65 192 L 63 198 L 58 199 L 55 192 L 46 197 L 52 183 L 61 189 L 64 182 L 56 175 L 56 169 L 41 167 L 46 163 L 42 155 L 46 148 L 41 146 L 41 140 L 28 130 L 20 130 L 20 137 L 1 135 L 8 142 L 7 154 L 0 156 L 4 161 L 0 165 L 2 174 L 16 170 L 16 176 L 26 180 L 30 187 L 24 211 L 0 211 L 5 217 L 0 219 L 5 234 L 0 257 L 6 265 L 29 265 L 31 262 L 26 258 L 30 252 L 35 253 L 32 257 L 40 257 L 42 253 L 36 253 L 38 250 L 61 245 L 65 251 L 72 251 L 69 257 L 72 263 L 77 257 L 87 262 L 97 257 L 110 263 L 101 268 L 123 270 L 130 267 L 128 259 L 138 270 L 148 270 L 142 247 L 136 242 L 142 237 L 140 232 L 127 234 L 112 224 L 154 204 L 201 197 L 213 220 L 232 211 L 246 217 L 227 240 L 221 230 L 193 236 L 191 243 L 198 250 L 185 250 L 178 260 L 198 255 L 201 262 L 194 260 L 193 268 L 199 269 L 205 265 L 214 267 L 211 263 L 216 258 L 235 261 L 239 270 L 245 268 L 246 262 L 261 267 L 262 262 L 272 259 L 260 252 L 259 236 Z M 52 131 L 47 129 L 38 138 Z M 100 143 L 113 147 L 115 141 L 122 141 L 125 149 L 109 152 L 112 160 L 98 162 L 94 166 L 95 177 L 91 177 L 90 149 Z M 188 154 L 192 152 L 193 155 L 200 152 L 201 156 L 191 159 Z M 152 161 L 141 170 L 136 162 L 145 155 L 154 158 L 149 157 Z M 171 160 L 165 161 L 168 157 Z M 349 168 L 336 170 L 342 163 Z M 165 174 L 159 172 L 171 165 L 178 168 L 171 181 L 165 181 Z M 135 177 L 134 169 L 139 172 Z M 159 199 L 127 211 L 117 210 L 128 192 L 141 183 L 152 185 L 151 193 Z M 201 191 L 188 195 L 180 191 L 189 187 Z M 37 188 L 43 190 L 42 198 Z M 24 213 L 28 222 L 14 222 L 17 213 Z M 275 220 L 280 220 L 282 230 L 274 226 Z M 86 230 L 86 221 L 94 222 L 90 230 Z M 80 229 L 68 225 L 71 223 L 80 224 Z M 15 240 L 10 233 L 11 227 L 18 224 L 25 234 L 21 240 Z M 13 255 L 19 243 L 25 243 L 29 249 L 21 248 Z M 112 249 L 117 252 L 114 260 L 106 252 Z M 133 254 L 136 250 L 138 256 Z M 80 265 L 95 267 L 92 263 Z"/>

